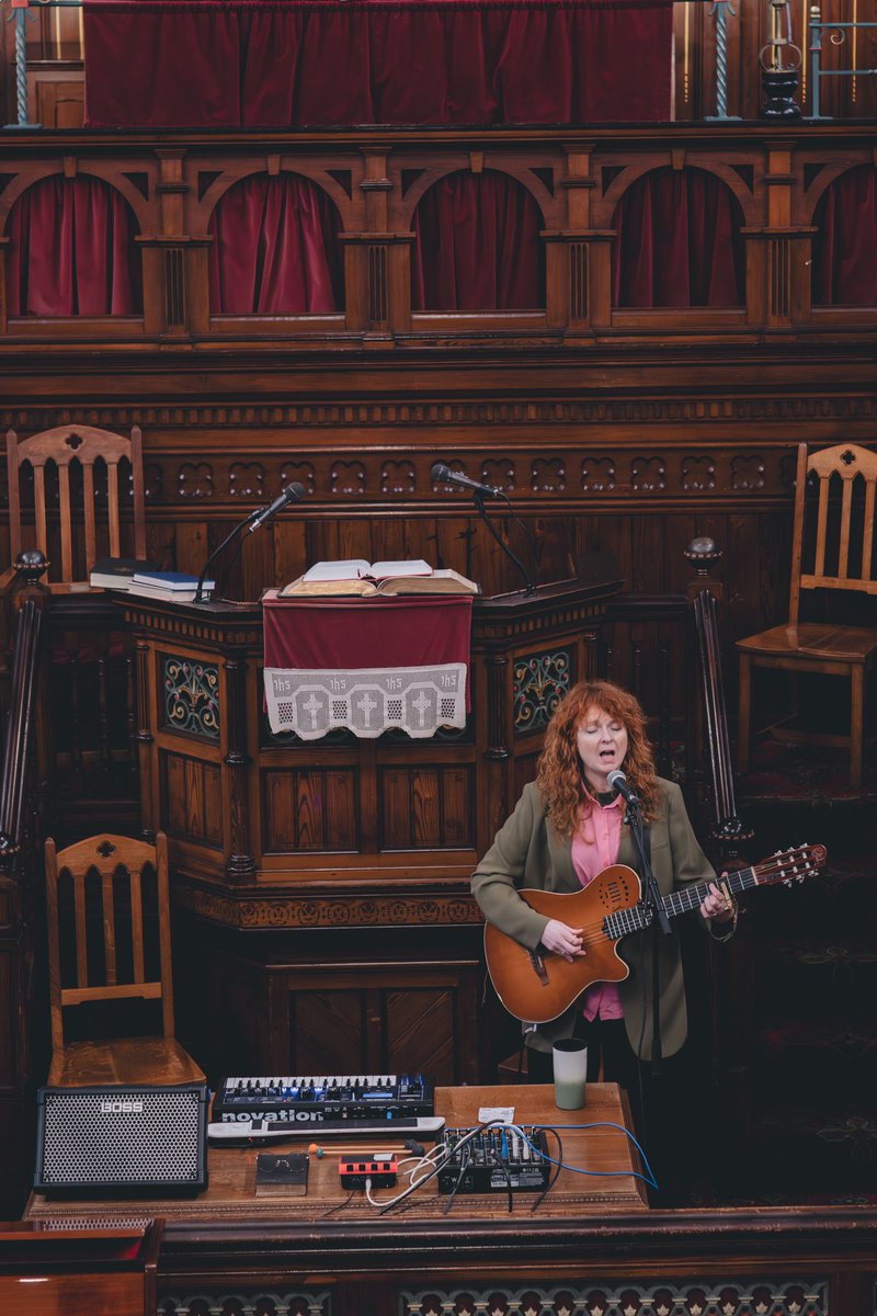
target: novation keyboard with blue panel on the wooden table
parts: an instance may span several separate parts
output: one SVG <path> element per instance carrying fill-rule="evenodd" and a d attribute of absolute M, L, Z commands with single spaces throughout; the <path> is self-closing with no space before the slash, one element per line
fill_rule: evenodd
<path fill-rule="evenodd" d="M 288 1078 L 224 1078 L 213 1098 L 213 1120 L 243 1124 L 320 1125 L 360 1121 L 398 1124 L 433 1115 L 433 1084 L 419 1074 L 321 1074 Z"/>

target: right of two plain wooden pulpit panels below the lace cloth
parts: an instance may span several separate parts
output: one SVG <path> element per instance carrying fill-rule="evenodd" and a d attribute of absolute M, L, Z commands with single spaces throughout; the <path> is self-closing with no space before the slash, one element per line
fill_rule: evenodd
<path fill-rule="evenodd" d="M 379 770 L 381 850 L 475 845 L 473 771 L 467 765 Z"/>

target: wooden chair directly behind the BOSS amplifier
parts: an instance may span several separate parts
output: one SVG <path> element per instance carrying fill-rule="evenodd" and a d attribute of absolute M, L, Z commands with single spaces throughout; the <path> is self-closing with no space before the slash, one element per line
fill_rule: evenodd
<path fill-rule="evenodd" d="M 164 834 L 154 846 L 124 836 L 92 836 L 60 851 L 47 840 L 46 924 L 50 1086 L 202 1083 L 204 1074 L 174 1037 Z M 68 1008 L 133 999 L 159 1003 L 160 1037 L 66 1041 Z"/>

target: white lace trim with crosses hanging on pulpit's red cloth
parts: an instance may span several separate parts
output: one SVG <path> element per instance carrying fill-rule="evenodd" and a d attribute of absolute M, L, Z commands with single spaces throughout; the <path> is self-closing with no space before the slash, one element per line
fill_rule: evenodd
<path fill-rule="evenodd" d="M 414 740 L 439 726 L 465 726 L 465 663 L 302 671 L 266 667 L 272 732 L 318 740 L 335 726 L 372 740 L 392 726 Z"/>

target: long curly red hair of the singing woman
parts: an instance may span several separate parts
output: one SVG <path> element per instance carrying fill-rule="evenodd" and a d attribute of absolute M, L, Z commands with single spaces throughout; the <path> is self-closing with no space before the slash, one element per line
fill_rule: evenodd
<path fill-rule="evenodd" d="M 576 830 L 582 804 L 585 813 L 589 812 L 588 800 L 582 797 L 582 787 L 588 790 L 589 783 L 579 757 L 576 733 L 590 708 L 600 708 L 623 722 L 627 730 L 625 775 L 639 795 L 646 817 L 651 820 L 657 816 L 655 759 L 646 734 L 646 713 L 639 700 L 609 680 L 580 680 L 551 715 L 536 763 L 536 786 L 560 836 L 572 836 Z"/>

